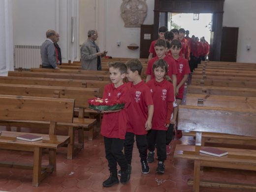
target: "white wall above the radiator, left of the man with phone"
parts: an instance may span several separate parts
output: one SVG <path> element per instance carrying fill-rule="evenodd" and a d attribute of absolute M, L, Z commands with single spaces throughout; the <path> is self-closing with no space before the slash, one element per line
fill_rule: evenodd
<path fill-rule="evenodd" d="M 78 0 L 13 0 L 14 45 L 41 45 L 48 29 L 60 34 L 62 60 L 78 61 Z M 76 17 L 75 41 L 71 42 L 71 17 Z"/>

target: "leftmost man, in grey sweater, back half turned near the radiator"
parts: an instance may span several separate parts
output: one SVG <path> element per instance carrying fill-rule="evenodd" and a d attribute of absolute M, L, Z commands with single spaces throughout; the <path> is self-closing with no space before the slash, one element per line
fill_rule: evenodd
<path fill-rule="evenodd" d="M 47 30 L 46 40 L 41 45 L 41 58 L 43 68 L 58 68 L 56 61 L 56 52 L 54 47 L 56 32 Z"/>

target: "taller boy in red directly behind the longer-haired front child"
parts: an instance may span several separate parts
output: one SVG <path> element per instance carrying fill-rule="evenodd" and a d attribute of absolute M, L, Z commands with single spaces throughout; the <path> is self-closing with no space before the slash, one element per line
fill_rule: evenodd
<path fill-rule="evenodd" d="M 165 55 L 166 51 L 167 51 L 166 41 L 162 40 L 162 39 L 158 39 L 156 44 L 155 44 L 155 50 L 156 50 L 157 56 L 154 57 L 153 59 L 151 59 L 148 62 L 146 82 L 148 82 L 150 79 L 155 78 L 155 75 L 154 75 L 154 72 L 153 72 L 153 64 L 157 60 L 163 59 L 168 65 L 167 75 L 169 77 L 171 77 L 172 82 L 173 82 L 173 87 L 174 87 L 174 90 L 175 90 L 176 89 L 177 68 L 176 68 L 176 65 L 174 63 L 174 60 L 171 59 L 169 56 Z"/>

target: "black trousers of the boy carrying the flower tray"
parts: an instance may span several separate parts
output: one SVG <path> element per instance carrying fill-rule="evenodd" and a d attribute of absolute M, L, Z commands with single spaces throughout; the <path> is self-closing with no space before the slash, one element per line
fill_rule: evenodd
<path fill-rule="evenodd" d="M 127 170 L 128 163 L 122 151 L 124 139 L 104 137 L 104 144 L 110 173 L 117 173 L 117 163 L 121 170 Z"/>

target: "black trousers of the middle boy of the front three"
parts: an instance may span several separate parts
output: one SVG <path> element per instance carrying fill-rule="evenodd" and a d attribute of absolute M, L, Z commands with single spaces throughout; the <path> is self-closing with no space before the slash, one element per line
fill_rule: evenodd
<path fill-rule="evenodd" d="M 131 164 L 134 136 L 136 136 L 136 144 L 139 150 L 140 161 L 142 162 L 147 160 L 147 135 L 135 135 L 132 132 L 126 132 L 125 157 L 128 164 Z"/>

